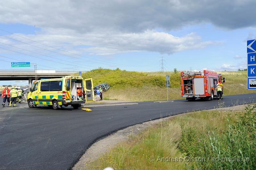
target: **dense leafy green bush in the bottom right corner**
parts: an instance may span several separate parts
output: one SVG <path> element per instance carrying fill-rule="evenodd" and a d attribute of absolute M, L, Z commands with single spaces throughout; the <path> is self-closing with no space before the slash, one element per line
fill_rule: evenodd
<path fill-rule="evenodd" d="M 236 123 L 228 119 L 223 135 L 208 132 L 204 156 L 210 159 L 197 162 L 199 169 L 256 169 L 255 108 L 256 105 L 246 106 L 245 114 Z"/>

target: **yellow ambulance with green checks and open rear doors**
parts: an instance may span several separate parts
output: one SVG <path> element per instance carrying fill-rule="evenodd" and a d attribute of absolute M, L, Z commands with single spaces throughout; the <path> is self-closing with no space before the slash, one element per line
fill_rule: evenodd
<path fill-rule="evenodd" d="M 28 93 L 28 106 L 48 105 L 54 110 L 71 105 L 77 109 L 85 101 L 94 101 L 92 79 L 80 76 L 64 76 L 62 78 L 36 81 Z"/>

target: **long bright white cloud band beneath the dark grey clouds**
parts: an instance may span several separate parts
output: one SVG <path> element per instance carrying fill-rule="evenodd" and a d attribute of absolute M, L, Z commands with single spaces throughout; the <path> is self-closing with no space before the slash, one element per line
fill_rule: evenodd
<path fill-rule="evenodd" d="M 60 30 L 58 35 L 55 35 L 55 33 L 52 33 L 52 31 L 44 32 L 44 34 L 37 35 L 19 35 L 32 40 L 36 40 L 38 42 L 42 42 L 49 46 L 76 53 L 78 55 L 84 52 L 97 55 L 113 55 L 117 53 L 140 51 L 172 54 L 178 51 L 199 49 L 204 48 L 205 46 L 210 44 L 217 44 L 212 41 L 203 41 L 200 36 L 196 35 L 196 33 L 190 33 L 181 37 L 175 37 L 168 33 L 156 32 L 152 30 L 145 31 L 143 33 L 90 32 L 81 34 L 76 33 L 73 30 L 65 29 Z M 23 38 L 17 37 L 15 35 L 10 35 L 8 37 L 12 39 L 18 39 L 19 41 L 28 44 L 33 43 L 29 40 L 24 40 Z M 7 40 L 8 38 L 4 39 L 4 41 Z M 7 44 L 11 44 L 13 46 L 26 50 L 35 50 L 35 47 L 33 46 L 29 46 L 28 44 L 16 41 L 9 41 Z M 38 53 L 39 51 L 41 53 L 52 53 L 51 51 L 56 51 L 51 47 L 46 47 L 38 43 L 33 44 L 39 46 L 40 48 L 50 50 L 47 52 L 43 49 L 36 48 L 36 52 Z M 83 44 L 86 44 L 86 47 L 84 47 Z M 64 54 L 63 51 L 58 51 L 58 53 Z M 65 55 L 67 55 L 67 53 L 65 53 Z"/>

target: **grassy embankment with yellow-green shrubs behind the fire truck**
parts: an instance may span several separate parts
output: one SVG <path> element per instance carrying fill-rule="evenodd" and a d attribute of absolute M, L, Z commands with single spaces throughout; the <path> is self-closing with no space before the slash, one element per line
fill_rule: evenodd
<path fill-rule="evenodd" d="M 246 71 L 218 72 L 226 79 L 224 96 L 253 93 L 246 89 Z M 159 101 L 166 100 L 165 75 L 171 76 L 169 99 L 181 99 L 180 72 L 130 72 L 125 70 L 95 69 L 83 73 L 93 84 L 108 82 L 111 88 L 104 93 L 105 100 Z"/>

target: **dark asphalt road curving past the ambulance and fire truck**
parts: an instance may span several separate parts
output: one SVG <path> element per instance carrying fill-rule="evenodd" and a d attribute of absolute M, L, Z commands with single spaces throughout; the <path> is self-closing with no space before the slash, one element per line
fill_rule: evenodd
<path fill-rule="evenodd" d="M 223 105 L 254 103 L 256 94 L 224 96 Z M 2 100 L 1 100 L 2 103 Z M 0 169 L 70 169 L 96 140 L 141 122 L 193 110 L 212 109 L 218 100 L 175 100 L 94 107 L 0 107 Z"/>

